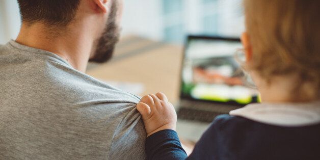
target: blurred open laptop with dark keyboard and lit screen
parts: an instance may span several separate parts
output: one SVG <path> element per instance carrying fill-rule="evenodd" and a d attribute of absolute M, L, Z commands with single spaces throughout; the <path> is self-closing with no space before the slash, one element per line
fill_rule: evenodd
<path fill-rule="evenodd" d="M 248 87 L 252 81 L 234 56 L 241 48 L 239 38 L 188 36 L 181 68 L 178 121 L 208 124 L 218 115 L 259 101 L 258 91 Z"/>

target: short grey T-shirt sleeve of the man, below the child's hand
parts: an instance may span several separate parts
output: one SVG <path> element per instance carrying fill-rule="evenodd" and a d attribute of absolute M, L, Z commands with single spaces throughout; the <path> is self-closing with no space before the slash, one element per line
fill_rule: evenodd
<path fill-rule="evenodd" d="M 134 109 L 117 127 L 108 159 L 146 159 L 146 138 L 141 115 Z"/>

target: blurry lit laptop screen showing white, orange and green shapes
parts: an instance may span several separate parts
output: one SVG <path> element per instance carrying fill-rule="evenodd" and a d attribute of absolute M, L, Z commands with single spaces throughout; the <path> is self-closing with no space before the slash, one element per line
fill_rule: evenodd
<path fill-rule="evenodd" d="M 189 36 L 181 72 L 181 98 L 246 105 L 258 91 L 234 58 L 239 39 Z M 251 83 L 252 84 L 252 83 Z"/>

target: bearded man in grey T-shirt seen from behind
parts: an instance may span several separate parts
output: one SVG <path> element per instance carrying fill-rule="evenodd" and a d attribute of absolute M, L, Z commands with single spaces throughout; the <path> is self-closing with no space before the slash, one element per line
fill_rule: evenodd
<path fill-rule="evenodd" d="M 0 159 L 144 159 L 140 98 L 85 74 L 110 59 L 120 0 L 18 0 L 0 46 Z"/>

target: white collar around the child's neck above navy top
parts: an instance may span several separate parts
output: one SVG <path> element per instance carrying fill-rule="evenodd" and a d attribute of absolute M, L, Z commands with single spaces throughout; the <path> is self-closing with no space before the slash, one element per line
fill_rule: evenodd
<path fill-rule="evenodd" d="M 320 123 L 320 101 L 311 103 L 255 103 L 231 111 L 229 114 L 277 126 L 308 126 Z"/>

